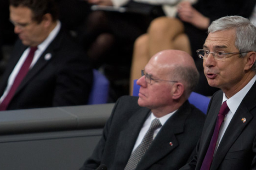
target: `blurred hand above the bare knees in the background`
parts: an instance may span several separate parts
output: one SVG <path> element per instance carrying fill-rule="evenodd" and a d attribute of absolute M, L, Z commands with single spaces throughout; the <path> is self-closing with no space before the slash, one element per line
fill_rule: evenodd
<path fill-rule="evenodd" d="M 178 16 L 182 21 L 188 22 L 202 30 L 206 30 L 210 24 L 210 19 L 199 13 L 187 1 L 178 4 Z"/>

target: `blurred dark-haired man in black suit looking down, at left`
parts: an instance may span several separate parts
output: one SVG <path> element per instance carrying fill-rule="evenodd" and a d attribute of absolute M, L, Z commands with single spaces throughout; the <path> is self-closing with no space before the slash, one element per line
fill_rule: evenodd
<path fill-rule="evenodd" d="M 93 73 L 54 0 L 10 0 L 19 40 L 0 81 L 0 110 L 86 104 Z"/>

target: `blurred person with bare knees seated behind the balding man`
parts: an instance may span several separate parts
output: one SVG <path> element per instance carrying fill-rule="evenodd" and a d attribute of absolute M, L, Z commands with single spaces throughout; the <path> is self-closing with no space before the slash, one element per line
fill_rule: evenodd
<path fill-rule="evenodd" d="M 202 48 L 211 21 L 227 15 L 250 17 L 255 4 L 255 0 L 235 0 L 235 3 L 232 0 L 199 0 L 194 5 L 181 2 L 177 17 L 156 18 L 151 22 L 147 34 L 137 38 L 134 44 L 130 94 L 133 80 L 139 78 L 139 70 L 145 67 L 152 54 L 164 49 L 177 49 L 188 52 L 195 60 L 200 73 L 195 92 L 212 96 L 217 88 L 208 85 L 196 50 Z"/>

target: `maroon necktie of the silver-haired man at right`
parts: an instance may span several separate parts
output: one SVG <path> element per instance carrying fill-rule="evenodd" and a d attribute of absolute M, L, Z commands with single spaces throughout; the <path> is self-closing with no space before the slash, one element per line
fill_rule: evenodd
<path fill-rule="evenodd" d="M 216 147 L 216 142 L 217 142 L 219 131 L 220 131 L 220 128 L 221 128 L 221 123 L 223 122 L 224 117 L 229 112 L 229 110 L 230 110 L 230 108 L 227 106 L 226 101 L 223 102 L 223 104 L 221 105 L 220 112 L 218 114 L 215 129 L 214 129 L 214 132 L 213 132 L 213 135 L 212 135 L 212 140 L 210 142 L 207 153 L 206 153 L 206 155 L 203 159 L 203 163 L 202 163 L 202 166 L 201 166 L 200 170 L 210 170 L 214 150 L 215 150 L 215 147 Z"/>

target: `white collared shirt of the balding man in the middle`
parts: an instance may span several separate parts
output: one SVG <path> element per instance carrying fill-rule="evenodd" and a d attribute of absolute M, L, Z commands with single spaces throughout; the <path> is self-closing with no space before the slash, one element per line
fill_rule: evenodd
<path fill-rule="evenodd" d="M 161 127 L 157 128 L 154 131 L 154 136 L 153 136 L 153 140 L 155 138 L 155 136 L 157 135 L 157 133 L 160 131 L 160 129 L 163 127 L 164 123 L 176 112 L 177 110 L 173 111 L 172 113 L 169 113 L 168 115 L 165 115 L 161 118 L 157 118 L 159 119 L 160 123 L 162 124 Z M 143 124 L 141 131 L 139 133 L 139 136 L 137 137 L 136 143 L 133 147 L 132 152 L 139 146 L 139 144 L 141 144 L 143 137 L 146 135 L 146 132 L 149 130 L 150 128 L 150 124 L 151 122 L 155 119 L 156 117 L 154 116 L 154 114 L 151 112 L 150 116 L 146 119 L 145 123 Z"/>

